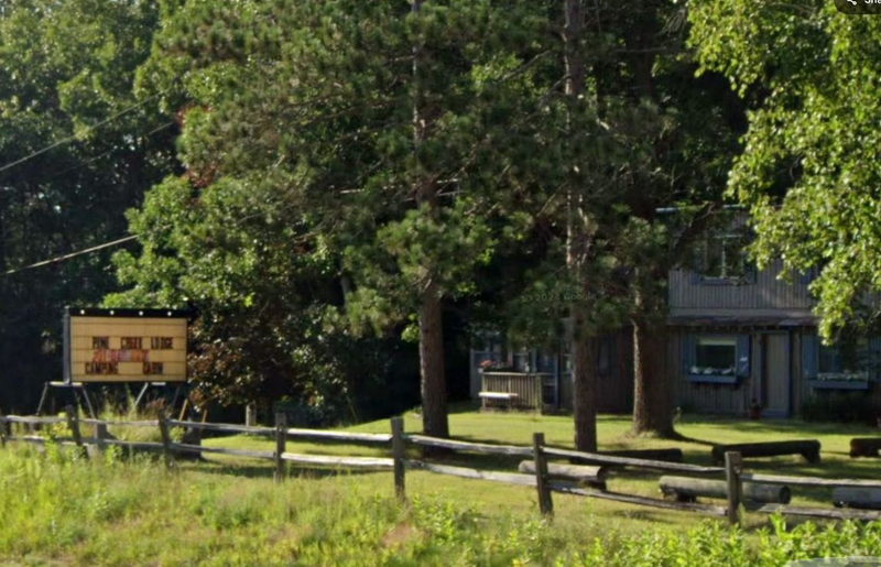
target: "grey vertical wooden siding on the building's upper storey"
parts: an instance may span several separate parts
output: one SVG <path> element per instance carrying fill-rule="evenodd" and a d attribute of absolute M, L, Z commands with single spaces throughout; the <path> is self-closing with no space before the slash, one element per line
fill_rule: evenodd
<path fill-rule="evenodd" d="M 670 307 L 672 316 L 738 315 L 744 312 L 774 315 L 779 310 L 791 315 L 811 315 L 813 299 L 800 277 L 793 283 L 777 280 L 780 262 L 759 271 L 755 283 L 722 284 L 697 281 L 694 272 L 674 270 L 670 273 Z"/>

